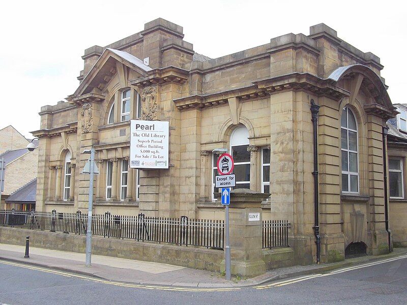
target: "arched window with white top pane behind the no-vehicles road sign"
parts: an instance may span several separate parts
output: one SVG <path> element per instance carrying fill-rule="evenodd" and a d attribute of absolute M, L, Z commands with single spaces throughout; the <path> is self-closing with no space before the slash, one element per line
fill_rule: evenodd
<path fill-rule="evenodd" d="M 235 161 L 235 189 L 250 189 L 250 151 L 249 132 L 246 127 L 238 127 L 230 136 L 230 153 Z"/>

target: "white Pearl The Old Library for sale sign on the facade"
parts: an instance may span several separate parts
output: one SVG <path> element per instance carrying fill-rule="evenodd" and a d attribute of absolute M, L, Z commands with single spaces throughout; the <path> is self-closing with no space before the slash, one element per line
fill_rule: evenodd
<path fill-rule="evenodd" d="M 130 167 L 168 168 L 169 123 L 131 120 Z"/>

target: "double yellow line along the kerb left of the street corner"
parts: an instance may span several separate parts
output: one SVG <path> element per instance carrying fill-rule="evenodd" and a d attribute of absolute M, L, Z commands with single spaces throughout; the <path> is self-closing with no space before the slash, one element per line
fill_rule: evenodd
<path fill-rule="evenodd" d="M 121 283 L 121 282 L 115 282 L 115 281 L 106 281 L 106 280 L 92 278 L 92 277 L 80 276 L 80 275 L 75 275 L 73 273 L 56 271 L 56 270 L 51 270 L 51 269 L 47 269 L 47 268 L 25 265 L 25 264 L 3 261 L 3 260 L 0 260 L 0 263 L 6 264 L 6 265 L 11 265 L 11 266 L 22 267 L 22 268 L 26 268 L 26 269 L 31 269 L 31 270 L 53 273 L 55 275 L 60 275 L 60 276 L 68 277 L 68 278 L 77 278 L 77 279 L 82 279 L 82 280 L 87 280 L 87 281 L 93 281 L 96 283 L 103 283 L 103 284 L 120 286 L 120 287 L 128 287 L 128 288 L 140 288 L 140 289 L 150 289 L 150 290 L 168 290 L 168 291 L 192 291 L 192 292 L 222 292 L 222 291 L 241 290 L 241 288 L 238 288 L 238 287 L 236 287 L 236 288 L 234 288 L 234 287 L 230 287 L 230 288 L 192 288 L 191 287 L 191 288 L 189 288 L 189 287 L 127 284 L 127 283 Z"/>

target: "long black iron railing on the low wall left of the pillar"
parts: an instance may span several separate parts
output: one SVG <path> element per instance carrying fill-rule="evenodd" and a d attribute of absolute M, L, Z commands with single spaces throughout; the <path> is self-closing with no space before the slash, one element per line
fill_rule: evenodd
<path fill-rule="evenodd" d="M 42 211 L 0 211 L 0 225 L 28 229 L 86 234 L 88 215 L 80 211 L 62 213 Z M 223 249 L 224 221 L 180 218 L 146 217 L 105 214 L 92 215 L 92 233 L 103 237 L 173 243 L 180 246 L 199 246 Z"/>

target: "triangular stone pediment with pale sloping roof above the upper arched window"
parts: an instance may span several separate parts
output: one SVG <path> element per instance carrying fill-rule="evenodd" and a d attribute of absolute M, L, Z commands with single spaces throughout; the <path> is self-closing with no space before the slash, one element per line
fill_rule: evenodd
<path fill-rule="evenodd" d="M 148 76 L 149 72 L 153 70 L 130 53 L 107 48 L 75 90 L 73 96 L 78 97 L 94 92 L 95 88 L 103 87 L 115 74 L 119 74 L 121 82 L 126 86 L 128 76 L 126 67 L 135 71 L 140 77 Z"/>

